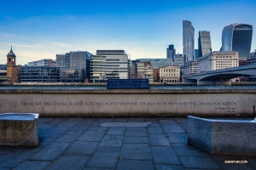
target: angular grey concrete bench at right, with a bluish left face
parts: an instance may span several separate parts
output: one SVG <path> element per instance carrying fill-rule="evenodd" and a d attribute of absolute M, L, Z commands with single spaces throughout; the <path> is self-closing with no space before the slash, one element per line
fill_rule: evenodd
<path fill-rule="evenodd" d="M 188 143 L 212 154 L 256 156 L 255 120 L 188 116 Z"/>

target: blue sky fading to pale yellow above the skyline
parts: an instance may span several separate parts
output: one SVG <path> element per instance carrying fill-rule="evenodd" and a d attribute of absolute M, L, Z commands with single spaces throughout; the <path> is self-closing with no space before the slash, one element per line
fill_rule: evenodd
<path fill-rule="evenodd" d="M 131 59 L 166 58 L 170 44 L 183 53 L 183 20 L 195 28 L 195 48 L 198 32 L 210 31 L 218 51 L 224 26 L 256 26 L 255 7 L 255 0 L 0 0 L 0 64 L 11 46 L 17 65 L 97 49 L 124 49 Z"/>

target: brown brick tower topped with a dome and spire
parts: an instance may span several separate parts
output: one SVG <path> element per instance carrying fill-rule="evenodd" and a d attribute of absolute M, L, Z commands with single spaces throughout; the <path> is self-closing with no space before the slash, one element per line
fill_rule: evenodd
<path fill-rule="evenodd" d="M 20 82 L 20 66 L 16 65 L 16 55 L 12 47 L 7 54 L 7 77 L 11 83 Z"/>

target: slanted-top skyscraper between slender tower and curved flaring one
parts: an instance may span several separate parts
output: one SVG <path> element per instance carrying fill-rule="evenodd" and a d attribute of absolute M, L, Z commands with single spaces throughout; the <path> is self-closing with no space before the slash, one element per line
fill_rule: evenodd
<path fill-rule="evenodd" d="M 199 57 L 212 53 L 210 31 L 199 31 L 198 52 Z"/>

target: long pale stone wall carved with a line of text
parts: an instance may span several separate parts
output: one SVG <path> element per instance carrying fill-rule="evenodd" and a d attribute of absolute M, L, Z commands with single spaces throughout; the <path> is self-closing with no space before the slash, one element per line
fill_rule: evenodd
<path fill-rule="evenodd" d="M 0 89 L 0 113 L 255 116 L 256 89 Z"/>

